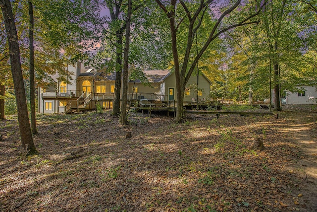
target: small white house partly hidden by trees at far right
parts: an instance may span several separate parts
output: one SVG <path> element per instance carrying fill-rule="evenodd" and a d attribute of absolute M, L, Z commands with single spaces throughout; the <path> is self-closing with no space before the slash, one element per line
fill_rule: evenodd
<path fill-rule="evenodd" d="M 286 104 L 317 104 L 317 90 L 315 86 L 301 85 L 298 88 L 302 91 L 287 92 Z"/>

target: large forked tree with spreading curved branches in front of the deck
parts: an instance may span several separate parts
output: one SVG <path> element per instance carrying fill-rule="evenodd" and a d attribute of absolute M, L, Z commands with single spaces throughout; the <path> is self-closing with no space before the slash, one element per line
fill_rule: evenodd
<path fill-rule="evenodd" d="M 213 0 L 200 0 L 192 6 L 193 2 L 187 2 L 184 0 L 170 0 L 170 3 L 167 3 L 166 0 L 156 0 L 159 7 L 164 11 L 167 18 L 169 19 L 169 29 L 171 36 L 171 49 L 173 53 L 173 62 L 174 62 L 174 72 L 176 77 L 176 93 L 177 93 L 177 109 L 176 109 L 176 117 L 175 121 L 180 122 L 183 117 L 183 99 L 184 99 L 184 90 L 185 86 L 191 76 L 192 72 L 196 68 L 196 65 L 199 59 L 202 57 L 208 46 L 213 42 L 219 35 L 223 32 L 228 31 L 237 26 L 242 26 L 251 23 L 258 23 L 258 21 L 252 21 L 252 18 L 259 14 L 261 8 L 264 6 L 264 3 L 261 4 L 260 1 L 257 2 L 258 8 L 254 8 L 249 6 L 249 9 L 255 11 L 253 14 L 248 14 L 244 19 L 239 20 L 236 23 L 233 23 L 229 26 L 225 26 L 221 29 L 221 22 L 223 18 L 230 14 L 233 10 L 235 10 L 241 0 L 237 0 L 233 5 L 229 6 L 215 21 L 214 25 L 211 27 L 209 36 L 206 37 L 206 42 L 203 47 L 199 49 L 198 54 L 192 53 L 192 46 L 194 42 L 194 37 L 197 31 L 200 29 L 202 25 L 202 19 L 205 15 L 211 15 L 212 11 L 211 3 Z M 195 1 L 196 2 L 196 1 Z M 190 4 L 190 6 L 188 6 Z M 180 18 L 179 18 L 180 17 Z M 214 18 L 211 16 L 211 18 Z M 187 24 L 183 24 L 182 27 L 187 27 L 187 41 L 185 42 L 186 51 L 182 58 L 179 57 L 178 46 L 180 46 L 177 36 L 177 29 L 179 26 L 187 20 Z M 192 51 L 191 51 L 192 50 Z M 194 61 L 189 64 L 190 57 L 194 56 Z"/>

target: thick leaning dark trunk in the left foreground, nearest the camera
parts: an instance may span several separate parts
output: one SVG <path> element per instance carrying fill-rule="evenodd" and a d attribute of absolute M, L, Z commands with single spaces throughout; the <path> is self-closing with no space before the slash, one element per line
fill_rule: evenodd
<path fill-rule="evenodd" d="M 0 0 L 0 6 L 3 15 L 6 35 L 9 44 L 10 63 L 12 79 L 15 90 L 16 106 L 18 111 L 18 122 L 21 136 L 22 148 L 28 154 L 37 152 L 33 143 L 31 127 L 28 117 L 28 110 L 26 105 L 25 89 L 23 82 L 23 75 L 20 61 L 20 49 L 18 43 L 18 36 L 15 27 L 14 17 L 12 13 L 10 0 Z"/>

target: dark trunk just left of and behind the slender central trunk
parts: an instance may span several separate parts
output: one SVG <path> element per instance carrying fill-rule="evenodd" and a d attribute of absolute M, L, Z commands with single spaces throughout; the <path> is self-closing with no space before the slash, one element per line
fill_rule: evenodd
<path fill-rule="evenodd" d="M 114 99 L 112 115 L 120 114 L 120 91 L 121 91 L 121 76 L 122 76 L 122 33 L 117 31 L 116 40 L 116 65 L 115 65 L 115 82 L 114 82 Z"/>

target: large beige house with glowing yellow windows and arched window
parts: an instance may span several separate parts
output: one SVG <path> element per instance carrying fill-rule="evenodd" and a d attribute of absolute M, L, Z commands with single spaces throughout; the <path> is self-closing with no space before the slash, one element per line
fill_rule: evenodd
<path fill-rule="evenodd" d="M 54 75 L 54 84 L 38 87 L 39 113 L 68 113 L 72 110 L 96 108 L 95 101 L 103 108 L 112 108 L 114 98 L 115 72 L 106 73 L 84 67 L 78 62 L 68 66 L 71 76 L 68 83 Z M 166 102 L 176 100 L 175 74 L 169 70 L 144 71 L 148 83 L 139 79 L 128 82 L 128 100 L 140 101 L 148 99 Z M 196 97 L 197 76 L 192 75 L 186 85 L 184 101 L 191 102 Z M 199 98 L 207 99 L 210 94 L 211 82 L 204 75 L 199 75 Z M 93 92 L 95 90 L 95 92 Z M 122 86 L 121 86 L 122 90 Z"/>

